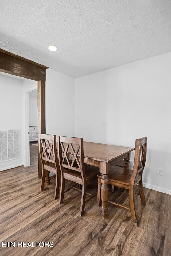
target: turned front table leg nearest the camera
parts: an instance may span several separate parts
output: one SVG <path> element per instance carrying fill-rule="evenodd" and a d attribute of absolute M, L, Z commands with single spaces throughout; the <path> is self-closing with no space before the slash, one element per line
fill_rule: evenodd
<path fill-rule="evenodd" d="M 105 162 L 100 162 L 100 173 L 102 175 L 101 179 L 101 214 L 102 219 L 107 219 L 108 217 L 108 197 L 109 197 L 109 187 L 108 187 L 108 173 L 110 172 L 110 164 Z"/>

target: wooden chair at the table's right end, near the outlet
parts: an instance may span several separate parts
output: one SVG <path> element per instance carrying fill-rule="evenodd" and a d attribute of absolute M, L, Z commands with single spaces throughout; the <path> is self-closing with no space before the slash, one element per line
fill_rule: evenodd
<path fill-rule="evenodd" d="M 123 188 L 124 191 L 122 194 L 114 201 L 108 201 L 109 203 L 122 207 L 124 209 L 131 211 L 131 220 L 137 223 L 139 226 L 137 215 L 135 211 L 135 203 L 134 203 L 134 189 L 135 186 L 139 185 L 139 195 L 141 198 L 141 203 L 146 205 L 144 191 L 143 191 L 143 183 L 142 183 L 142 173 L 145 167 L 146 162 L 146 154 L 147 154 L 147 137 L 143 137 L 140 139 L 136 139 L 135 141 L 135 157 L 134 157 L 134 166 L 133 170 L 127 169 L 124 167 L 119 167 L 116 165 L 111 166 L 111 170 L 108 176 L 108 184 L 114 185 L 119 188 Z M 101 190 L 101 174 L 98 174 L 98 196 L 97 203 L 101 205 L 100 198 L 100 190 Z M 119 204 L 118 201 L 124 195 L 126 191 L 129 191 L 129 206 Z"/>

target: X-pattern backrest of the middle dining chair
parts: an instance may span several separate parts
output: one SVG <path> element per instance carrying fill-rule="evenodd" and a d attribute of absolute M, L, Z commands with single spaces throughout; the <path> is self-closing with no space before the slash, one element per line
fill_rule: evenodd
<path fill-rule="evenodd" d="M 61 171 L 64 171 L 63 168 L 67 168 L 81 172 L 82 178 L 86 177 L 83 138 L 59 136 L 58 158 Z"/>

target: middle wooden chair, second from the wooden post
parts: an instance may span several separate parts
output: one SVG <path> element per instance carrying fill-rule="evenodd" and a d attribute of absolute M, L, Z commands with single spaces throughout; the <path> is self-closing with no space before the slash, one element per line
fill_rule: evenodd
<path fill-rule="evenodd" d="M 84 149 L 83 138 L 74 137 L 58 137 L 58 158 L 61 170 L 61 189 L 59 203 L 63 203 L 64 193 L 71 188 L 75 188 L 77 184 L 82 185 L 81 207 L 79 215 L 84 214 L 85 203 L 92 197 L 91 195 L 86 200 L 86 186 L 97 178 L 99 168 L 84 164 Z M 75 184 L 65 190 L 65 180 L 73 181 Z"/>

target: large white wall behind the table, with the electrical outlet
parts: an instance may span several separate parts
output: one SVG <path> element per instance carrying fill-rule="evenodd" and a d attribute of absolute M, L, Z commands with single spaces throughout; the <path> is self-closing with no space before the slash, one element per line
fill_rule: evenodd
<path fill-rule="evenodd" d="M 75 80 L 75 136 L 130 147 L 147 136 L 144 185 L 169 194 L 170 67 L 171 53 L 166 53 Z"/>

